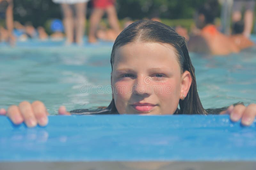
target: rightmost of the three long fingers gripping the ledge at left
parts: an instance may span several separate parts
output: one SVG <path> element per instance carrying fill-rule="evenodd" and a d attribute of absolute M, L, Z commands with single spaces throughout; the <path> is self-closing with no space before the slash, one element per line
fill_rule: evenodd
<path fill-rule="evenodd" d="M 34 101 L 32 104 L 32 109 L 34 111 L 36 120 L 40 126 L 46 126 L 48 123 L 48 112 L 46 111 L 46 108 L 44 106 L 44 103 L 41 101 Z"/>

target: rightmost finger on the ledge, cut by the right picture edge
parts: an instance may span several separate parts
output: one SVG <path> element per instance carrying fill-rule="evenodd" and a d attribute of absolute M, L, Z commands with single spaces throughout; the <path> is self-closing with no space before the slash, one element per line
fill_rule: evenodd
<path fill-rule="evenodd" d="M 250 104 L 244 110 L 242 124 L 245 126 L 250 126 L 254 121 L 256 116 L 256 104 Z"/>

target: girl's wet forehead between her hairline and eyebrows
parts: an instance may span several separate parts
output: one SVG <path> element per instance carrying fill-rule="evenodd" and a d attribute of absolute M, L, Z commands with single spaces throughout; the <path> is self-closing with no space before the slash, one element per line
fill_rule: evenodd
<path fill-rule="evenodd" d="M 167 43 L 133 42 L 116 49 L 114 67 L 119 64 L 178 64 L 175 48 Z"/>

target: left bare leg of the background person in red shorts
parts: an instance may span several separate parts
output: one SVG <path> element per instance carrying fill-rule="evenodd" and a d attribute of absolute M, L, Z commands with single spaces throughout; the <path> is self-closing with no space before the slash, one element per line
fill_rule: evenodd
<path fill-rule="evenodd" d="M 97 41 L 95 34 L 96 34 L 98 24 L 100 22 L 100 19 L 103 16 L 103 14 L 104 14 L 103 9 L 95 8 L 92 11 L 92 15 L 90 17 L 90 29 L 89 29 L 89 36 L 88 36 L 88 41 L 90 43 L 94 43 Z"/>

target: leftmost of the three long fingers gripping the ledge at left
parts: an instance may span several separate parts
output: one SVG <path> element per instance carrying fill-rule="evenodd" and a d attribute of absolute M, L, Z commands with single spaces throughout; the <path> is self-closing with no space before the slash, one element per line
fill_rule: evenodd
<path fill-rule="evenodd" d="M 20 109 L 18 106 L 10 106 L 7 110 L 7 114 L 6 114 L 10 119 L 11 121 L 18 125 L 20 123 L 22 123 L 24 121 L 21 113 L 20 113 Z"/>

